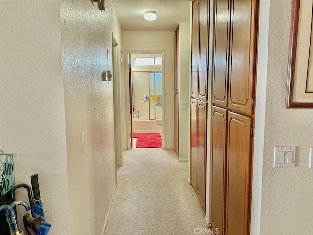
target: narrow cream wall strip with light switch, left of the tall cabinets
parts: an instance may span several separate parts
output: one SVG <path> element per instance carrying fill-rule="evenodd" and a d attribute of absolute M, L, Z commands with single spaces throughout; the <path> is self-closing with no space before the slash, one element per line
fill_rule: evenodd
<path fill-rule="evenodd" d="M 179 22 L 179 160 L 188 160 L 189 155 L 189 106 L 190 106 L 190 22 Z M 187 103 L 182 109 L 181 102 Z"/>

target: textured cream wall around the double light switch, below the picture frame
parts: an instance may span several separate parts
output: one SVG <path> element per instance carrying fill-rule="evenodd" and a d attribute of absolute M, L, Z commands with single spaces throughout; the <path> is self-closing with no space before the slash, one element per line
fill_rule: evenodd
<path fill-rule="evenodd" d="M 290 24 L 291 1 L 270 1 L 268 67 L 258 71 L 258 79 L 266 77 L 266 102 L 256 103 L 257 113 L 265 111 L 260 234 L 266 235 L 313 234 L 313 110 L 285 109 Z M 273 168 L 275 146 L 297 146 L 296 167 Z"/>

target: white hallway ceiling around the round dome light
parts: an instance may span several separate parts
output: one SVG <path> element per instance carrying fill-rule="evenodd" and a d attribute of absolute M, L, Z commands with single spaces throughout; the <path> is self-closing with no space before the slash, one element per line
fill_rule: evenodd
<path fill-rule="evenodd" d="M 190 21 L 190 0 L 112 0 L 123 31 L 175 31 L 180 21 Z M 156 11 L 155 21 L 143 18 Z"/>

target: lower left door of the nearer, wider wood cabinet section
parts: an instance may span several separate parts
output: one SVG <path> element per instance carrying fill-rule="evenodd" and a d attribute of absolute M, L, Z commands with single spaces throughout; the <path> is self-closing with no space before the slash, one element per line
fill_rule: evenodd
<path fill-rule="evenodd" d="M 227 110 L 212 106 L 211 225 L 225 234 Z"/>

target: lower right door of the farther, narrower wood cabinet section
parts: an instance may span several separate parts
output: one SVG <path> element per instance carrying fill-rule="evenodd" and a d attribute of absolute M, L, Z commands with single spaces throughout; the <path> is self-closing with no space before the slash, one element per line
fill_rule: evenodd
<path fill-rule="evenodd" d="M 198 197 L 205 211 L 206 199 L 206 140 L 207 140 L 207 102 L 198 100 L 198 157 L 197 187 Z"/>

